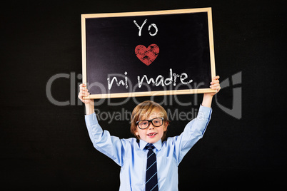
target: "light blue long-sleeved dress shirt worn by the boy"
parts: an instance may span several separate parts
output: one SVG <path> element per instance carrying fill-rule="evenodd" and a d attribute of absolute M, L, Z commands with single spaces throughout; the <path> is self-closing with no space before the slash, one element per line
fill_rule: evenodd
<path fill-rule="evenodd" d="M 158 168 L 158 190 L 178 190 L 178 165 L 191 147 L 203 137 L 209 120 L 211 108 L 200 106 L 198 115 L 191 120 L 181 135 L 168 138 L 153 145 Z M 136 138 L 120 139 L 102 130 L 96 114 L 85 116 L 86 126 L 94 148 L 121 166 L 119 190 L 145 190 L 146 142 Z"/>

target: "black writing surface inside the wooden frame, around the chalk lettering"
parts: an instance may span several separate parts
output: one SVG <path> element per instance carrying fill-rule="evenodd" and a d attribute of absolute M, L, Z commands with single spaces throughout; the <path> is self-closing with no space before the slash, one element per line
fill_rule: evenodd
<path fill-rule="evenodd" d="M 142 26 L 145 19 L 147 23 L 139 36 L 134 21 Z M 156 24 L 158 28 L 155 36 L 149 35 L 150 24 Z M 156 60 L 146 66 L 136 57 L 134 49 L 139 44 L 148 47 L 153 43 L 158 45 L 159 53 Z M 88 85 L 91 94 L 148 91 L 146 86 L 138 87 L 138 76 L 143 78 L 146 75 L 155 81 L 159 75 L 164 79 L 173 78 L 170 69 L 178 76 L 186 73 L 188 78 L 185 82 L 192 79 L 192 83 L 184 85 L 179 78 L 171 86 L 152 86 L 151 83 L 148 86 L 151 91 L 209 88 L 210 57 L 207 12 L 86 19 L 87 82 L 89 85 L 98 82 L 105 86 L 103 91 L 99 86 Z M 109 90 L 107 76 L 111 75 L 110 82 L 114 76 L 118 81 L 125 81 L 125 72 L 129 87 L 116 86 L 114 82 Z M 124 77 L 115 75 L 117 73 Z M 197 87 L 198 84 L 201 85 Z"/>

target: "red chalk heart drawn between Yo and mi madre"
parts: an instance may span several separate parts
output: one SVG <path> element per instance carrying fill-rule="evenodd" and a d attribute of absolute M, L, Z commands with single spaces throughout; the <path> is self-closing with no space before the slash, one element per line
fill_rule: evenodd
<path fill-rule="evenodd" d="M 136 57 L 146 64 L 146 66 L 149 66 L 158 56 L 159 48 L 155 43 L 153 43 L 148 46 L 148 48 L 144 45 L 138 45 L 134 51 L 136 53 Z"/>

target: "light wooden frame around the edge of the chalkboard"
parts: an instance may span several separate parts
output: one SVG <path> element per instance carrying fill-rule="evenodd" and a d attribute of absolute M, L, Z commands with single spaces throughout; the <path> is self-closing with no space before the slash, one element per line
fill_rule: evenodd
<path fill-rule="evenodd" d="M 86 67 L 86 19 L 91 18 L 107 18 L 107 17 L 123 17 L 123 16 L 153 16 L 166 14 L 186 14 L 186 13 L 200 13 L 207 12 L 208 15 L 208 37 L 210 48 L 211 61 L 211 81 L 216 76 L 214 46 L 213 46 L 213 26 L 211 7 L 201 9 L 176 9 L 166 11 L 140 11 L 140 12 L 126 12 L 126 13 L 111 13 L 111 14 L 81 14 L 81 40 L 82 40 L 82 80 L 87 85 L 87 67 Z M 170 90 L 170 91 L 143 91 L 143 92 L 129 92 L 129 93 L 106 93 L 106 94 L 91 94 L 85 99 L 99 99 L 99 98 L 126 98 L 137 96 L 167 96 L 167 95 L 182 95 L 193 93 L 213 93 L 211 88 L 185 89 L 185 90 Z"/>

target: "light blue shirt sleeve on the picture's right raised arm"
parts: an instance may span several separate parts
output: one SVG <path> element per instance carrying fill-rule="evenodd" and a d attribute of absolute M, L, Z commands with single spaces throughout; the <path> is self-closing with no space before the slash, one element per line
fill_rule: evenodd
<path fill-rule="evenodd" d="M 183 130 L 181 135 L 173 138 L 175 146 L 176 160 L 179 163 L 196 142 L 203 137 L 206 127 L 211 119 L 211 108 L 200 106 L 198 115 L 191 120 Z"/>

